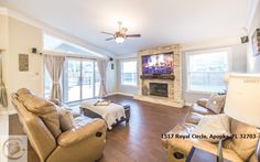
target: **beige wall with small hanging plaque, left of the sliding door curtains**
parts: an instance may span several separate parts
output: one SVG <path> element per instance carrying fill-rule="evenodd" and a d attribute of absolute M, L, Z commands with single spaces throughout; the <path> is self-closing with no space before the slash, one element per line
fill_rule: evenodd
<path fill-rule="evenodd" d="M 8 89 L 9 108 L 13 107 L 10 94 L 25 87 L 36 95 L 43 94 L 42 57 L 31 54 L 31 47 L 42 47 L 42 31 L 17 19 L 8 19 L 8 48 L 4 55 L 4 79 Z M 29 72 L 19 72 L 19 54 L 29 54 Z"/>

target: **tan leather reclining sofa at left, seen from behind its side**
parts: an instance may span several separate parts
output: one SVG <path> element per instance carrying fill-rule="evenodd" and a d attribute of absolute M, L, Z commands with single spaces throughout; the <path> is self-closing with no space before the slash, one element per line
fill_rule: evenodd
<path fill-rule="evenodd" d="M 104 120 L 78 117 L 71 130 L 62 132 L 55 104 L 28 89 L 12 94 L 12 102 L 41 162 L 94 162 L 101 158 L 107 130 Z"/>

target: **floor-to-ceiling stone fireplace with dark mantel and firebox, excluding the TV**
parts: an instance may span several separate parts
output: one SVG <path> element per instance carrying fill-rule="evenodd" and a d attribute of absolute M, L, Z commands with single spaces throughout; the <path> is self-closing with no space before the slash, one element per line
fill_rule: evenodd
<path fill-rule="evenodd" d="M 173 53 L 172 75 L 142 75 L 142 56 L 162 53 Z M 144 50 L 138 53 L 138 95 L 134 99 L 182 108 L 182 57 L 178 44 Z"/>

